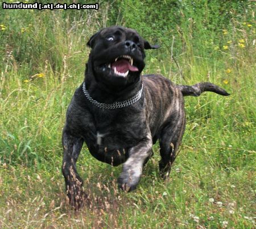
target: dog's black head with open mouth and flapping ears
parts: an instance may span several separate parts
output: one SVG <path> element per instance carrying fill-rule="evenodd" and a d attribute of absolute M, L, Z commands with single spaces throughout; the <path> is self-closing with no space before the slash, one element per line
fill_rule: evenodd
<path fill-rule="evenodd" d="M 144 49 L 156 49 L 130 28 L 112 26 L 94 34 L 87 45 L 92 48 L 90 64 L 97 81 L 126 85 L 141 74 L 145 63 Z"/>

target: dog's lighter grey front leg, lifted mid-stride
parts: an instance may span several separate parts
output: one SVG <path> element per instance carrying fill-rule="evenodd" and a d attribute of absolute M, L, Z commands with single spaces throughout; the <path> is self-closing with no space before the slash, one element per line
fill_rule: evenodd
<path fill-rule="evenodd" d="M 129 149 L 129 158 L 123 164 L 123 171 L 118 178 L 119 188 L 126 191 L 136 189 L 139 178 L 141 178 L 144 161 L 150 157 L 151 150 L 151 134 Z"/>

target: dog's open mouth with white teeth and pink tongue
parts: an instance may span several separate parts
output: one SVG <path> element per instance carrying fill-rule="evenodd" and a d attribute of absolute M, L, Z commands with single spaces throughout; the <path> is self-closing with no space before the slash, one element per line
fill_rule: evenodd
<path fill-rule="evenodd" d="M 113 63 L 108 65 L 110 69 L 114 71 L 117 76 L 126 77 L 131 72 L 138 72 L 137 66 L 133 65 L 133 58 L 128 55 L 123 55 L 115 58 Z"/>

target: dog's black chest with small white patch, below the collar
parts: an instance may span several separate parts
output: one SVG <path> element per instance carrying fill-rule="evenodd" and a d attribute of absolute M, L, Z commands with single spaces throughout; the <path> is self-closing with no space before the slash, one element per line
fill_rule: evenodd
<path fill-rule="evenodd" d="M 90 124 L 83 127 L 90 153 L 108 164 L 123 163 L 129 149 L 146 135 L 146 122 L 138 120 L 125 114 L 95 115 Z"/>

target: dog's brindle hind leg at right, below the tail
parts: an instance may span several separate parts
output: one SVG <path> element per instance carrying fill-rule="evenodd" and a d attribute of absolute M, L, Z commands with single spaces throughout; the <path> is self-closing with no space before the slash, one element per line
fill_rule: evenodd
<path fill-rule="evenodd" d="M 176 158 L 176 152 L 181 143 L 185 130 L 185 112 L 183 103 L 179 110 L 172 114 L 164 125 L 159 138 L 160 156 L 159 170 L 160 176 L 164 179 L 169 177 L 171 165 Z"/>

